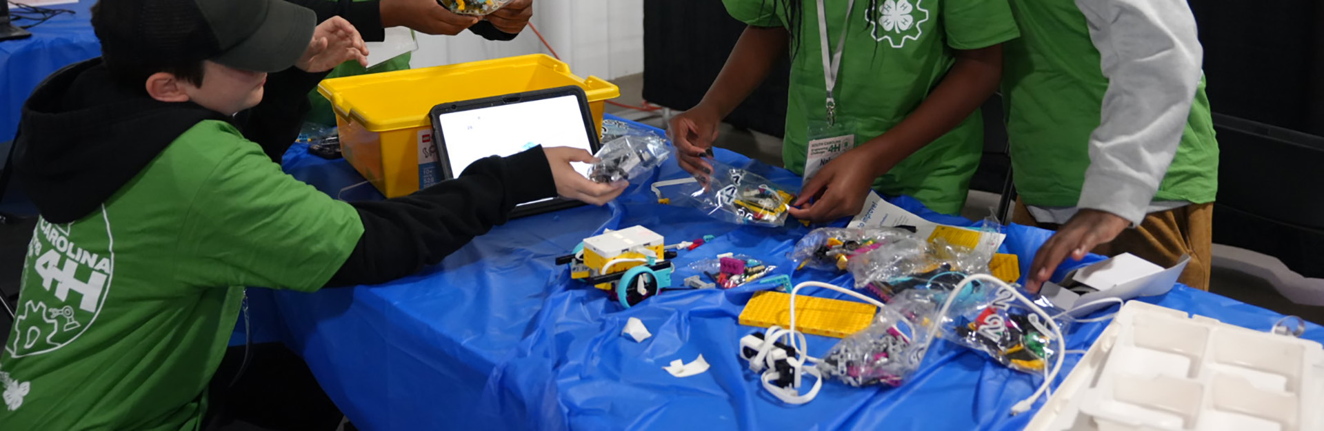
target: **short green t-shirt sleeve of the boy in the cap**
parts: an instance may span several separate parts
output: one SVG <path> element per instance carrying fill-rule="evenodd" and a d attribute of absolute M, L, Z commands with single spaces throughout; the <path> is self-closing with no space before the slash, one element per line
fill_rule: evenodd
<path fill-rule="evenodd" d="M 363 235 L 359 213 L 281 172 L 242 136 L 212 134 L 205 143 L 228 151 L 184 219 L 176 276 L 191 286 L 324 286 Z"/>

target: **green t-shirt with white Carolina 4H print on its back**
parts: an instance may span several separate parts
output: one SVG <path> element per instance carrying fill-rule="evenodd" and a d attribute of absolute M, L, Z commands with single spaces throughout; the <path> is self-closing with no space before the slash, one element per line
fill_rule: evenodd
<path fill-rule="evenodd" d="M 196 430 L 244 287 L 316 290 L 361 234 L 348 204 L 200 122 L 91 214 L 38 221 L 0 428 Z"/>

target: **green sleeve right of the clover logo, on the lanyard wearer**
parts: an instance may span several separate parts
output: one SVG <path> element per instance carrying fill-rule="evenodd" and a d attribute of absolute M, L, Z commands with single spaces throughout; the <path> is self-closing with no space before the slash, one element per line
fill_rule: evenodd
<path fill-rule="evenodd" d="M 955 49 L 988 48 L 1021 36 L 1008 0 L 948 0 L 943 28 Z"/>

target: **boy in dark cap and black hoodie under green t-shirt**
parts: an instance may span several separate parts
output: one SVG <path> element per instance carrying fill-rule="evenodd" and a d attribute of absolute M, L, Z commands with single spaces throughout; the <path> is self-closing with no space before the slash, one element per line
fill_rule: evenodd
<path fill-rule="evenodd" d="M 199 430 L 245 287 L 387 282 L 516 204 L 621 192 L 575 172 L 588 152 L 535 147 L 406 197 L 335 201 L 232 122 L 258 104 L 302 118 L 327 70 L 364 61 L 346 20 L 281 0 L 102 0 L 91 22 L 102 57 L 50 75 L 15 141 L 41 218 L 0 353 L 0 430 Z"/>

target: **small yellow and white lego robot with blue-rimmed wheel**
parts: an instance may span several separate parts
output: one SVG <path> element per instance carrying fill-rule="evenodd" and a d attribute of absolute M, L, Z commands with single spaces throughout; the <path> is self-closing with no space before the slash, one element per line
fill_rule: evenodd
<path fill-rule="evenodd" d="M 556 258 L 571 266 L 571 279 L 613 292 L 621 307 L 630 308 L 671 287 L 671 262 L 662 235 L 633 226 L 585 238 L 575 254 Z"/>

